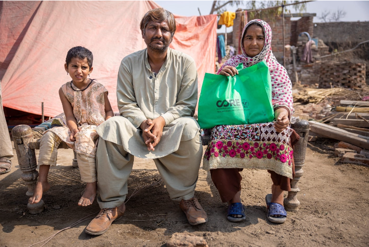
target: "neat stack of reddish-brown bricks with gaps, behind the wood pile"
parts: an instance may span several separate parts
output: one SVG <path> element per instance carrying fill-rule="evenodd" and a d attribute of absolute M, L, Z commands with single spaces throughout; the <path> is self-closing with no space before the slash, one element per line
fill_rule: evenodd
<path fill-rule="evenodd" d="M 326 62 L 324 66 L 320 66 L 319 74 L 320 88 L 356 88 L 366 85 L 365 63 Z"/>

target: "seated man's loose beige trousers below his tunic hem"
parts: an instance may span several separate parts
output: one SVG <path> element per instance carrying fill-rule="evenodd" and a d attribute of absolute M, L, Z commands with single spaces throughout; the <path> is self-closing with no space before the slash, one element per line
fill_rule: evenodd
<path fill-rule="evenodd" d="M 160 145 L 160 142 L 159 144 Z M 127 180 L 132 171 L 134 156 L 123 146 L 99 137 L 96 152 L 96 170 L 100 208 L 121 205 L 128 193 Z M 200 132 L 188 141 L 182 141 L 177 151 L 154 159 L 172 200 L 193 197 L 202 158 Z"/>

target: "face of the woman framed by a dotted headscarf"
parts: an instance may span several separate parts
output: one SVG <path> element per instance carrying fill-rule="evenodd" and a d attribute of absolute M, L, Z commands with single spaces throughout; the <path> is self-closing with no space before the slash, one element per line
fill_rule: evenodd
<path fill-rule="evenodd" d="M 260 26 L 251 24 L 244 36 L 244 49 L 246 55 L 250 58 L 258 55 L 264 47 L 265 37 L 263 29 Z"/>

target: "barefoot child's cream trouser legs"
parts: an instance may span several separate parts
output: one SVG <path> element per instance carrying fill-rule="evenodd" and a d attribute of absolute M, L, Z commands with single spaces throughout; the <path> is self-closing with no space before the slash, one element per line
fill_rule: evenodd
<path fill-rule="evenodd" d="M 38 164 L 56 166 L 58 158 L 58 146 L 62 142 L 57 134 L 47 131 L 41 137 Z M 77 162 L 81 180 L 85 183 L 97 181 L 95 159 L 77 153 Z"/>

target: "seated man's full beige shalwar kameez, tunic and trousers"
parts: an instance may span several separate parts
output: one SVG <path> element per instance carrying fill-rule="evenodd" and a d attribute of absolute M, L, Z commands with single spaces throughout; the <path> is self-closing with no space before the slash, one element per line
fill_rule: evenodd
<path fill-rule="evenodd" d="M 169 48 L 166 62 L 155 74 L 146 49 L 128 55 L 119 69 L 117 98 L 121 116 L 96 128 L 100 207 L 124 202 L 133 156 L 154 159 L 173 200 L 192 198 L 202 157 L 200 127 L 192 118 L 197 103 L 193 59 Z M 163 136 L 155 151 L 148 151 L 139 126 L 160 116 L 166 123 Z"/>

